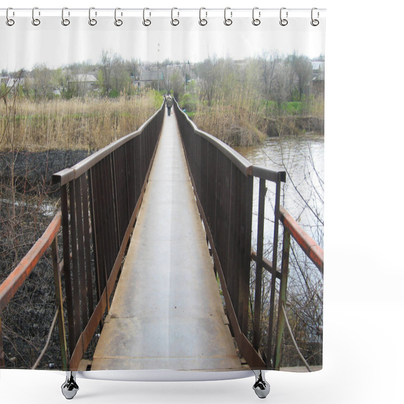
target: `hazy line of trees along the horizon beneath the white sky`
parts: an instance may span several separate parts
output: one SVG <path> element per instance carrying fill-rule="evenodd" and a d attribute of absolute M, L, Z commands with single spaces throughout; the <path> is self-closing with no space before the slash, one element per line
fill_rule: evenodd
<path fill-rule="evenodd" d="M 103 51 L 97 64 L 81 62 L 58 69 L 40 64 L 30 72 L 20 71 L 10 76 L 23 78 L 20 91 L 34 100 L 81 97 L 89 93 L 117 97 L 132 94 L 140 86 L 150 86 L 171 92 L 190 104 L 204 102 L 211 106 L 238 91 L 259 100 L 268 115 L 270 103 L 280 107 L 284 102 L 301 102 L 310 95 L 311 62 L 306 56 L 273 52 L 241 61 L 209 57 L 193 64 L 168 59 L 151 64 L 124 60 L 118 54 Z M 149 80 L 142 81 L 142 71 L 149 72 Z M 90 75 L 95 78 L 92 85 L 88 82 Z M 2 72 L 2 76 L 7 76 L 7 72 Z"/>

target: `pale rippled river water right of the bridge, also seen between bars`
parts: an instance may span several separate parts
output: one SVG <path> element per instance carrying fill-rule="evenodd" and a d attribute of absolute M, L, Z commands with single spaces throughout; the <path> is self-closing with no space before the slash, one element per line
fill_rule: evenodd
<path fill-rule="evenodd" d="M 281 187 L 281 205 L 304 230 L 323 246 L 324 136 L 270 138 L 258 146 L 235 148 L 250 163 L 287 172 Z M 266 239 L 273 232 L 275 184 L 267 181 Z M 254 182 L 253 234 L 257 231 L 259 180 Z M 254 238 L 254 236 L 253 236 Z"/>

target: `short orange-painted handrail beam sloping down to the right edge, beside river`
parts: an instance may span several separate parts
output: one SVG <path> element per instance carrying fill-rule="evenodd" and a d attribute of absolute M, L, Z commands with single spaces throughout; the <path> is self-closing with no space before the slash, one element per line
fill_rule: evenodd
<path fill-rule="evenodd" d="M 285 208 L 281 206 L 279 212 L 282 224 L 324 275 L 324 250 L 298 225 Z"/>

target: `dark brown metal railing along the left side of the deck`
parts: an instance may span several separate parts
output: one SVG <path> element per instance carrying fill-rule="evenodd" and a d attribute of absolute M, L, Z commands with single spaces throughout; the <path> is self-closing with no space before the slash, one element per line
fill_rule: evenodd
<path fill-rule="evenodd" d="M 61 190 L 70 370 L 109 309 L 163 117 L 164 105 L 136 132 L 53 176 Z"/>

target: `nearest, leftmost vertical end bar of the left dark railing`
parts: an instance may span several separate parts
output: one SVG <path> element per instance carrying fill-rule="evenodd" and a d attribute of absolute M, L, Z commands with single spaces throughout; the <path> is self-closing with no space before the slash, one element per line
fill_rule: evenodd
<path fill-rule="evenodd" d="M 70 188 L 70 185 L 69 185 Z M 69 329 L 69 348 L 73 352 L 76 345 L 76 335 L 73 315 L 72 280 L 70 274 L 70 240 L 69 240 L 69 208 L 68 208 L 67 184 L 61 186 L 62 209 L 62 235 L 63 235 L 63 270 L 65 276 L 66 306 Z"/>

